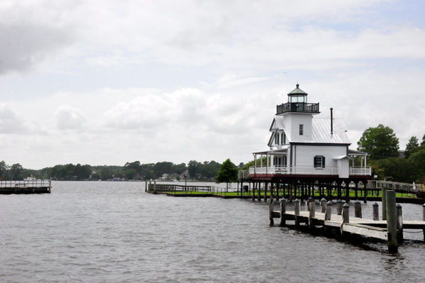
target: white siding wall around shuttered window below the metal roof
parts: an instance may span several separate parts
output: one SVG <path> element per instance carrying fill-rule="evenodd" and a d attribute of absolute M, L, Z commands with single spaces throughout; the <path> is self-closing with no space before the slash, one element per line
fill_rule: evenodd
<path fill-rule="evenodd" d="M 295 146 L 297 147 L 296 150 L 295 150 Z M 338 166 L 336 160 L 333 160 L 333 157 L 346 155 L 346 154 L 347 154 L 347 147 L 344 145 L 334 145 L 334 146 L 294 145 L 293 146 L 293 165 L 313 166 L 314 156 L 323 155 L 325 158 L 325 166 Z M 295 160 L 295 155 L 296 155 L 296 160 Z"/>

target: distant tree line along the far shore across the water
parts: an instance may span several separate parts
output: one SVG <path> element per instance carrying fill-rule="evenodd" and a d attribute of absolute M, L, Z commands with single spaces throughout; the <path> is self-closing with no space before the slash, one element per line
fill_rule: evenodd
<path fill-rule="evenodd" d="M 25 169 L 20 164 L 6 165 L 6 162 L 0 162 L 0 177 L 3 180 L 22 180 L 26 177 L 35 177 L 38 179 L 57 179 L 57 180 L 107 180 L 107 179 L 158 179 L 163 174 L 174 176 L 180 179 L 180 175 L 187 174 L 188 179 L 213 180 L 220 171 L 219 162 L 205 161 L 198 162 L 191 160 L 186 163 L 174 164 L 173 162 L 157 162 L 142 164 L 140 161 L 126 162 L 124 166 L 91 166 L 91 165 L 55 165 L 45 167 L 41 170 Z M 232 163 L 233 165 L 233 163 Z M 234 166 L 234 165 L 233 165 Z M 244 163 L 239 164 L 239 167 Z M 236 166 L 234 166 L 237 168 Z"/>

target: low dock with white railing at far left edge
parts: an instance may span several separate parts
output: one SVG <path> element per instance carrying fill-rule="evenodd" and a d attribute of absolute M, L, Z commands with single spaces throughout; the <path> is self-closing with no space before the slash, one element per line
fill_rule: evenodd
<path fill-rule="evenodd" d="M 50 194 L 51 180 L 0 181 L 0 194 Z"/>

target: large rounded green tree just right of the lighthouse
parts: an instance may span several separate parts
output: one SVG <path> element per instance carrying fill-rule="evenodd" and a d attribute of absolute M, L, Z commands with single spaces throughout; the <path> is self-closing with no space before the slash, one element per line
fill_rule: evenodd
<path fill-rule="evenodd" d="M 372 160 L 380 160 L 399 155 L 399 140 L 392 128 L 379 124 L 368 128 L 357 142 L 357 150 L 368 152 Z"/>

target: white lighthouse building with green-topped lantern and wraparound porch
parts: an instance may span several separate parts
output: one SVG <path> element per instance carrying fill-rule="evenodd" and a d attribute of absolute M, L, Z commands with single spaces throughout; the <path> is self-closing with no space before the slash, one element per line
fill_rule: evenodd
<path fill-rule="evenodd" d="M 276 106 L 269 131 L 268 150 L 254 152 L 254 166 L 240 172 L 239 179 L 273 184 L 357 184 L 370 179 L 365 152 L 348 148 L 351 141 L 341 119 L 315 118 L 319 103 L 309 103 L 299 84 L 288 102 Z M 361 156 L 361 166 L 353 157 Z"/>

